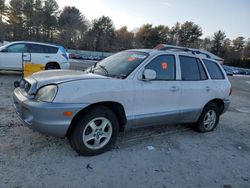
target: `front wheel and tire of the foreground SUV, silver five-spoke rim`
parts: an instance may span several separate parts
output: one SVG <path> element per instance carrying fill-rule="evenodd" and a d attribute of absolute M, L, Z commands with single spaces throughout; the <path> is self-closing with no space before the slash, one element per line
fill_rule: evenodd
<path fill-rule="evenodd" d="M 97 155 L 116 142 L 119 125 L 116 115 L 105 106 L 96 106 L 79 116 L 70 134 L 72 148 L 80 155 Z"/>

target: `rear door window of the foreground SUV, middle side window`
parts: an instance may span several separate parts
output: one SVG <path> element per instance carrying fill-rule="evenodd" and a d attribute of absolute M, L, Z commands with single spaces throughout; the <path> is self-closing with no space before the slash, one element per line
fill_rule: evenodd
<path fill-rule="evenodd" d="M 207 74 L 198 58 L 180 56 L 182 80 L 206 80 Z"/>

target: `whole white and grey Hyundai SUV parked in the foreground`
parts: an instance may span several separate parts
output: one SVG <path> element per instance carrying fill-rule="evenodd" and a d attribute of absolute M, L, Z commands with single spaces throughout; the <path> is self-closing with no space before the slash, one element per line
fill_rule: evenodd
<path fill-rule="evenodd" d="M 51 70 L 14 90 L 21 120 L 46 135 L 69 138 L 82 155 L 109 150 L 132 126 L 192 123 L 213 131 L 229 106 L 221 65 L 198 50 L 163 48 L 116 53 L 85 72 Z"/>

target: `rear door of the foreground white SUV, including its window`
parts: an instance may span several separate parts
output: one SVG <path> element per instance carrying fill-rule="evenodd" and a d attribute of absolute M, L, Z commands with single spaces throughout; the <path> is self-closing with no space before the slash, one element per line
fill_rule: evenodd
<path fill-rule="evenodd" d="M 213 98 L 211 80 L 199 58 L 180 55 L 181 121 L 197 121 L 204 105 Z"/>

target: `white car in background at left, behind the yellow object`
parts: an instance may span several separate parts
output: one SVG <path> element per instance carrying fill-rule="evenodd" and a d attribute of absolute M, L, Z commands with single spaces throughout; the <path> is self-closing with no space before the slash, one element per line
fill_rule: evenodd
<path fill-rule="evenodd" d="M 0 70 L 22 70 L 23 60 L 42 64 L 45 70 L 69 68 L 69 58 L 62 46 L 18 41 L 0 47 Z"/>

